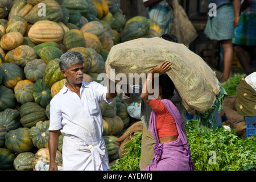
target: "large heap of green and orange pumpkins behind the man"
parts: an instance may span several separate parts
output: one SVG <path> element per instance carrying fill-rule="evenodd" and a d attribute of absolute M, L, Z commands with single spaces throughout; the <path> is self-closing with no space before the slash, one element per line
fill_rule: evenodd
<path fill-rule="evenodd" d="M 126 20 L 119 0 L 0 1 L 0 169 L 32 170 L 49 162 L 49 102 L 66 82 L 60 56 L 84 56 L 84 81 L 97 81 L 110 49 L 137 38 L 160 36 L 144 16 Z M 109 161 L 119 158 L 115 139 L 129 126 L 119 96 L 100 102 Z M 63 135 L 56 163 L 62 165 Z"/>

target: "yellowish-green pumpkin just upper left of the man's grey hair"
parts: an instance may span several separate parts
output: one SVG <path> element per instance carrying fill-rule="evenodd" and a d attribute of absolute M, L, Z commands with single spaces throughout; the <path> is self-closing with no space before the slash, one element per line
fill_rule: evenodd
<path fill-rule="evenodd" d="M 43 47 L 40 52 L 40 57 L 46 64 L 54 59 L 59 59 L 61 55 L 63 55 L 63 52 L 59 48 L 52 46 Z"/>

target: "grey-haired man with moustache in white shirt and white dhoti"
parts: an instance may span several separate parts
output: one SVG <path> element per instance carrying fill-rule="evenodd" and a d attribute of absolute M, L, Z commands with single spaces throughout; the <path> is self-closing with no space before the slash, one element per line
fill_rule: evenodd
<path fill-rule="evenodd" d="M 50 103 L 49 170 L 57 170 L 55 156 L 60 132 L 63 138 L 63 171 L 109 170 L 108 151 L 102 138 L 99 102 L 112 102 L 117 93 L 97 82 L 83 82 L 84 57 L 79 52 L 64 53 L 60 70 L 67 79 Z"/>

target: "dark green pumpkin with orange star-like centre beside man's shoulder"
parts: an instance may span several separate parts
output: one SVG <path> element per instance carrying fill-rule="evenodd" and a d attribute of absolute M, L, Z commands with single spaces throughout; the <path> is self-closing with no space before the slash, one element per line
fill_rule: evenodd
<path fill-rule="evenodd" d="M 35 102 L 43 107 L 46 107 L 52 99 L 51 89 L 46 86 L 43 78 L 40 78 L 33 85 Z"/>

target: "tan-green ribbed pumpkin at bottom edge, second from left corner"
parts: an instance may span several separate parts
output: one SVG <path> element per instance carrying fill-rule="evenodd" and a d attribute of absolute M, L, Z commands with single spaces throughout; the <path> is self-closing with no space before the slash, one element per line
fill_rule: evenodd
<path fill-rule="evenodd" d="M 13 166 L 16 171 L 33 171 L 32 162 L 35 154 L 32 152 L 22 152 L 16 156 Z"/>

